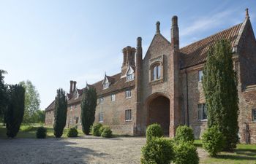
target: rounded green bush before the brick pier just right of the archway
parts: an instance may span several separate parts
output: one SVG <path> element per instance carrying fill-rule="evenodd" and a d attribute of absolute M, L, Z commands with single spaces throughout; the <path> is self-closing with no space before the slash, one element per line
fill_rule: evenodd
<path fill-rule="evenodd" d="M 177 144 L 181 142 L 190 142 L 192 144 L 195 140 L 192 128 L 187 125 L 178 126 L 174 140 Z"/>

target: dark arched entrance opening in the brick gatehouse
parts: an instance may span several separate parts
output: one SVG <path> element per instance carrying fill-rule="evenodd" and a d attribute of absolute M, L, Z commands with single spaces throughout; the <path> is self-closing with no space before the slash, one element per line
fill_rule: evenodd
<path fill-rule="evenodd" d="M 154 95 L 148 101 L 148 125 L 159 123 L 165 135 L 169 135 L 170 100 L 164 95 Z"/>

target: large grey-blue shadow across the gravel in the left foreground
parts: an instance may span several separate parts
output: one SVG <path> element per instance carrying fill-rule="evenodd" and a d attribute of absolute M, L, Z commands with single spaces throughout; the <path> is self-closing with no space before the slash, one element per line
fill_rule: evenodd
<path fill-rule="evenodd" d="M 2 163 L 90 163 L 94 157 L 108 157 L 105 152 L 62 138 L 0 139 L 0 144 Z"/>

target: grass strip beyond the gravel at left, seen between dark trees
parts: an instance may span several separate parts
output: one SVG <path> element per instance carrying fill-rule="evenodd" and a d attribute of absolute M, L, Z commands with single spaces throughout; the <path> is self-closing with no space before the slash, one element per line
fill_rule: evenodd
<path fill-rule="evenodd" d="M 36 138 L 37 128 L 39 125 L 21 125 L 20 130 L 15 138 Z M 53 135 L 53 127 L 47 127 L 47 137 L 54 137 Z M 64 129 L 63 135 L 61 137 L 67 138 L 67 128 Z M 78 136 L 84 136 L 82 130 L 78 130 Z M 0 126 L 0 138 L 7 138 L 6 136 L 6 128 L 4 126 Z"/>

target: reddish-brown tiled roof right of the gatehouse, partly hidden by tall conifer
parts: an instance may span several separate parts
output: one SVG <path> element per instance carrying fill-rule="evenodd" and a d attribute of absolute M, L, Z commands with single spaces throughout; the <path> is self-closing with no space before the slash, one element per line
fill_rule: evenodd
<path fill-rule="evenodd" d="M 219 39 L 227 39 L 230 41 L 231 45 L 234 46 L 241 26 L 242 23 L 189 44 L 186 47 L 182 47 L 180 49 L 182 60 L 181 69 L 204 63 L 206 61 L 208 48 Z"/>

